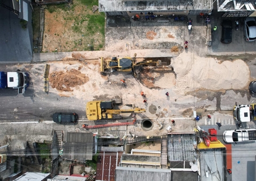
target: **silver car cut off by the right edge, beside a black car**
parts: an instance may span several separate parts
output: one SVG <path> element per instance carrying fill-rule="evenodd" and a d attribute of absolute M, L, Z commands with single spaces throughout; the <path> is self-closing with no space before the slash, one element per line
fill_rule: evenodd
<path fill-rule="evenodd" d="M 254 17 L 247 17 L 244 21 L 244 39 L 253 42 L 256 39 L 256 21 Z"/>

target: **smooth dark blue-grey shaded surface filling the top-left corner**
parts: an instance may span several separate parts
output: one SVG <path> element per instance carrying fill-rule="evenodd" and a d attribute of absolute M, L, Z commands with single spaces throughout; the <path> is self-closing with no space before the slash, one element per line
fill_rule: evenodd
<path fill-rule="evenodd" d="M 5 1 L 9 5 L 12 1 Z M 9 5 L 11 6 L 11 4 Z M 26 29 L 21 28 L 18 15 L 0 6 L 0 63 L 30 62 L 33 58 L 33 35 L 31 9 L 28 8 L 29 20 Z"/>

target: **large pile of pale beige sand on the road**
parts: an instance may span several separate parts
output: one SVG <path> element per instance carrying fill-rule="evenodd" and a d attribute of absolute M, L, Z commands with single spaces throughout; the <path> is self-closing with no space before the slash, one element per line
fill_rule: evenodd
<path fill-rule="evenodd" d="M 193 60 L 189 54 L 182 53 L 173 59 L 172 65 L 177 74 L 175 89 L 179 94 L 199 89 L 242 89 L 250 80 L 249 67 L 242 60 L 220 62 L 204 57 Z"/>

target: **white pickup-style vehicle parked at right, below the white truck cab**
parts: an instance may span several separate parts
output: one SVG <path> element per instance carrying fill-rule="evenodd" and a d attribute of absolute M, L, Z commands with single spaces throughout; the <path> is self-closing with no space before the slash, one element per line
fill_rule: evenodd
<path fill-rule="evenodd" d="M 226 143 L 255 141 L 256 129 L 225 130 L 223 139 Z"/>

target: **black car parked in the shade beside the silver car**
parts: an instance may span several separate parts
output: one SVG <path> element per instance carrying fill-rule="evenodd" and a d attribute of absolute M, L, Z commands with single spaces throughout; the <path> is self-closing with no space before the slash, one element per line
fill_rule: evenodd
<path fill-rule="evenodd" d="M 221 43 L 231 43 L 232 42 L 232 22 L 230 20 L 222 21 L 220 42 Z"/>

